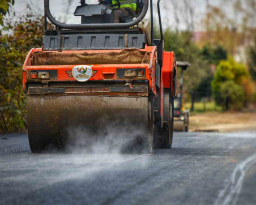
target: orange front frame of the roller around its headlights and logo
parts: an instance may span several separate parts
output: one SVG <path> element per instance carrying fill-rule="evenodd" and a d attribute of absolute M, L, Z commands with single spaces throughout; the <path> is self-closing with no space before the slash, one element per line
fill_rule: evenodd
<path fill-rule="evenodd" d="M 156 46 L 146 46 L 145 49 L 142 49 L 146 52 L 150 52 L 150 64 L 109 64 L 109 65 L 93 65 L 93 71 L 97 71 L 94 76 L 92 76 L 89 81 L 95 80 L 117 80 L 116 70 L 117 69 L 139 69 L 143 68 L 146 69 L 146 78 L 144 80 L 148 80 L 150 89 L 156 95 L 156 79 L 155 79 L 155 67 L 156 67 Z M 54 65 L 54 66 L 32 66 L 31 65 L 31 58 L 33 57 L 33 53 L 35 52 L 49 52 L 44 51 L 42 48 L 40 49 L 31 49 L 25 59 L 23 65 L 23 89 L 26 91 L 27 83 L 28 82 L 35 82 L 40 80 L 32 80 L 29 79 L 29 71 L 33 70 L 58 70 L 58 79 L 57 80 L 50 80 L 50 81 L 57 81 L 57 82 L 75 82 L 76 80 L 69 75 L 69 72 L 72 71 L 72 68 L 77 65 Z M 58 52 L 58 51 L 51 51 L 51 52 Z M 65 50 L 62 51 L 65 53 L 96 53 L 96 52 L 110 52 L 110 50 Z M 121 52 L 121 50 L 111 50 L 111 52 Z M 118 79 L 120 80 L 120 79 Z"/>

